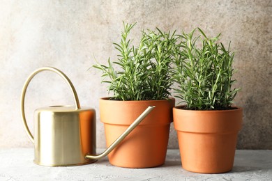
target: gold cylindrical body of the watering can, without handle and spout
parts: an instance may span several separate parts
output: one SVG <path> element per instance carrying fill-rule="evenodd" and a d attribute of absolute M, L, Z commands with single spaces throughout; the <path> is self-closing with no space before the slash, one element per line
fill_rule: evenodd
<path fill-rule="evenodd" d="M 96 111 L 88 108 L 45 107 L 36 109 L 34 146 L 36 164 L 69 166 L 96 159 Z"/>

